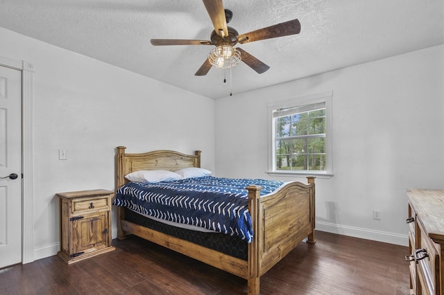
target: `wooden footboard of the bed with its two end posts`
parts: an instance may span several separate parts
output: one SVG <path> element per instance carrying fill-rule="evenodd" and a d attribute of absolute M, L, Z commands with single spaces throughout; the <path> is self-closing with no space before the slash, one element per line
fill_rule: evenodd
<path fill-rule="evenodd" d="M 259 278 L 302 240 L 314 238 L 314 177 L 292 182 L 273 195 L 259 197 L 260 186 L 248 186 L 253 242 L 248 245 L 248 294 L 259 294 Z"/>

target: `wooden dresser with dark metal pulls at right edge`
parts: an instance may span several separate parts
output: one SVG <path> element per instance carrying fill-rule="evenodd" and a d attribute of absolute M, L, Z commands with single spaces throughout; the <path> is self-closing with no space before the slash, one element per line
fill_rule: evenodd
<path fill-rule="evenodd" d="M 444 295 L 444 190 L 407 190 L 411 294 Z"/>

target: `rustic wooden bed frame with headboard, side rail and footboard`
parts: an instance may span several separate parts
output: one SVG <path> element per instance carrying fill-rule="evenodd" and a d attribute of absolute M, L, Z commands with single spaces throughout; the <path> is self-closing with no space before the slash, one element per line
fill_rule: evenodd
<path fill-rule="evenodd" d="M 171 150 L 157 150 L 142 154 L 126 154 L 126 147 L 117 147 L 117 187 L 124 178 L 137 170 L 178 170 L 200 168 L 200 151 L 194 155 Z M 253 242 L 248 244 L 248 260 L 228 256 L 219 251 L 174 238 L 125 220 L 124 208 L 119 207 L 118 237 L 127 234 L 160 244 L 208 265 L 228 271 L 248 280 L 248 294 L 259 294 L 259 278 L 293 250 L 302 240 L 316 242 L 314 177 L 308 184 L 291 182 L 273 195 L 259 197 L 260 186 L 252 184 L 248 190 L 248 208 L 253 221 Z"/>

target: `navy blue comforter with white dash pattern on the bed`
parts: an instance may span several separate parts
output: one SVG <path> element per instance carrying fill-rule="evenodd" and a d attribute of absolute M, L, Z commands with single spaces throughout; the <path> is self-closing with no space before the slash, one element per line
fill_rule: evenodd
<path fill-rule="evenodd" d="M 253 229 L 246 187 L 252 184 L 262 186 L 261 195 L 267 195 L 284 181 L 206 176 L 156 184 L 129 182 L 117 190 L 113 204 L 162 220 L 237 236 L 250 243 Z"/>

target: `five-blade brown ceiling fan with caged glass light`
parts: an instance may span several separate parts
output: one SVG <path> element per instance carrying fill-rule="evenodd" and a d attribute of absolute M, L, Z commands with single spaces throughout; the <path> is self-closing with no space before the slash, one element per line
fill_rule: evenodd
<path fill-rule="evenodd" d="M 300 33 L 300 23 L 298 19 L 275 24 L 250 33 L 241 34 L 237 30 L 227 26 L 231 21 L 232 12 L 223 8 L 222 0 L 203 0 L 208 15 L 212 20 L 214 30 L 211 33 L 211 41 L 193 39 L 151 39 L 154 46 L 164 45 L 214 45 L 208 58 L 194 75 L 206 75 L 212 66 L 222 69 L 232 68 L 239 62 L 244 62 L 257 73 L 264 73 L 270 66 L 264 64 L 250 53 L 233 46 L 237 43 L 246 44 L 264 39 L 296 35 Z"/>

